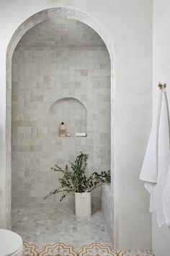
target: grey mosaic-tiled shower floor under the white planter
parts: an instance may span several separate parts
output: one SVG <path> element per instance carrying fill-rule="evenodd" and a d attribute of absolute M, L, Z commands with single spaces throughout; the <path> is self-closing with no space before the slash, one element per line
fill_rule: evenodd
<path fill-rule="evenodd" d="M 79 218 L 70 208 L 14 208 L 12 231 L 24 242 L 111 242 L 100 210 L 90 218 Z"/>

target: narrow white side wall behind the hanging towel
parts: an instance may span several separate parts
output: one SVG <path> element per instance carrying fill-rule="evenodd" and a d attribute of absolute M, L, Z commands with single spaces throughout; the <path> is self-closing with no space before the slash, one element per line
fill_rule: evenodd
<path fill-rule="evenodd" d="M 158 93 L 158 82 L 167 83 L 170 105 L 170 1 L 153 1 L 153 111 Z M 169 256 L 170 229 L 161 228 L 152 218 L 152 244 L 156 256 Z"/>

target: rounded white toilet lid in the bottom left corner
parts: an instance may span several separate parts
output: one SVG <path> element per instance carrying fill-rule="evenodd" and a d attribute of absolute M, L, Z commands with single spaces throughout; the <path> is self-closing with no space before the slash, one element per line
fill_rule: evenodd
<path fill-rule="evenodd" d="M 18 234 L 0 229 L 0 255 L 9 256 L 22 246 L 22 238 Z"/>

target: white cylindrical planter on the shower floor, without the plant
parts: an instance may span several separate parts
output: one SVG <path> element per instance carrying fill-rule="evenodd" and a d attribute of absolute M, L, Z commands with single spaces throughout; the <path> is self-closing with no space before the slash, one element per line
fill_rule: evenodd
<path fill-rule="evenodd" d="M 91 192 L 75 192 L 75 209 L 78 217 L 91 216 Z"/>

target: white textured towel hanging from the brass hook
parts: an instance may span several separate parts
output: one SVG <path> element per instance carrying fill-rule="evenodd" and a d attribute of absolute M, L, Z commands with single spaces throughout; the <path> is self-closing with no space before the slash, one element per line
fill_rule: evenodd
<path fill-rule="evenodd" d="M 146 156 L 140 173 L 140 179 L 145 182 L 145 187 L 150 192 L 150 211 L 156 211 L 158 226 L 166 223 L 164 210 L 166 205 L 163 195 L 170 163 L 169 145 L 169 108 L 166 89 L 161 89 Z"/>

